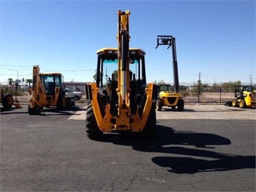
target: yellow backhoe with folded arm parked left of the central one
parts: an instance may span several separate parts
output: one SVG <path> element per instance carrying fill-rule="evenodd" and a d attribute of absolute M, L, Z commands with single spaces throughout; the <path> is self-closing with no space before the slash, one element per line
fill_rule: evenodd
<path fill-rule="evenodd" d="M 33 67 L 33 85 L 29 94 L 32 96 L 28 105 L 29 115 L 39 115 L 44 107 L 70 107 L 74 102 L 72 98 L 65 97 L 63 76 L 60 73 L 39 73 L 39 66 Z"/>

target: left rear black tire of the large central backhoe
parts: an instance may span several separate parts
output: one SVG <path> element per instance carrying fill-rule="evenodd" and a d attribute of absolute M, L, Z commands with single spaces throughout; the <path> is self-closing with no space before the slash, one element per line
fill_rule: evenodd
<path fill-rule="evenodd" d="M 103 135 L 103 132 L 99 129 L 99 126 L 96 122 L 91 101 L 89 101 L 86 110 L 86 134 L 87 137 L 92 140 L 98 140 Z"/>

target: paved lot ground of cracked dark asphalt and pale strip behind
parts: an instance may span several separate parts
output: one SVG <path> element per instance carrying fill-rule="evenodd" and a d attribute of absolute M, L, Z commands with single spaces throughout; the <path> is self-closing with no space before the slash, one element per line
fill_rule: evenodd
<path fill-rule="evenodd" d="M 1 191 L 255 191 L 255 110 L 157 111 L 154 141 L 85 133 L 85 106 L 1 113 Z"/>

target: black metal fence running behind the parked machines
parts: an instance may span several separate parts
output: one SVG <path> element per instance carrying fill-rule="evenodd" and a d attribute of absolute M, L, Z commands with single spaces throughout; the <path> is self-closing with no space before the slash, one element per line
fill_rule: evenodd
<path fill-rule="evenodd" d="M 171 90 L 173 90 L 173 84 L 171 85 Z M 28 92 L 29 86 L 6 85 L 6 82 L 0 82 L 0 87 L 1 91 L 4 93 L 13 94 L 13 99 L 15 99 L 16 102 L 21 104 L 29 103 L 29 99 L 31 97 Z M 76 91 L 75 86 L 70 88 Z M 235 88 L 236 85 L 231 83 L 182 83 L 180 84 L 180 94 L 185 103 L 226 103 L 227 101 L 231 101 L 235 98 Z M 255 84 L 254 89 L 256 89 Z M 81 90 L 81 92 L 83 93 L 83 97 L 76 101 L 77 104 L 83 103 L 86 100 L 84 90 Z"/>

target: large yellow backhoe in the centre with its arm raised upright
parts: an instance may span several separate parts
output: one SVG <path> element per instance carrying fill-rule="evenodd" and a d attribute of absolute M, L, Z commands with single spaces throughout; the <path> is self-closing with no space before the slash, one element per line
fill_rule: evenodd
<path fill-rule="evenodd" d="M 86 84 L 86 132 L 99 139 L 103 132 L 138 132 L 153 138 L 156 129 L 155 100 L 158 86 L 146 84 L 146 52 L 129 47 L 130 12 L 118 10 L 118 48 L 97 51 L 96 83 Z M 114 67 L 114 68 L 113 68 Z M 105 70 L 106 69 L 106 70 Z M 103 83 L 107 70 L 117 71 Z"/>

